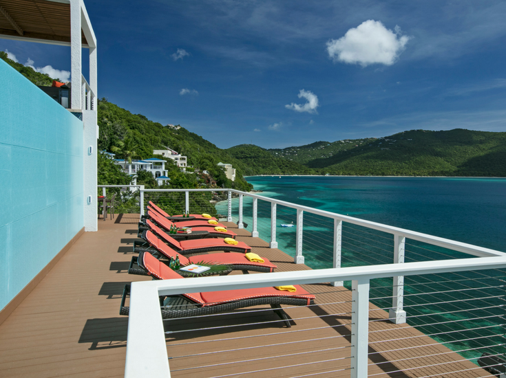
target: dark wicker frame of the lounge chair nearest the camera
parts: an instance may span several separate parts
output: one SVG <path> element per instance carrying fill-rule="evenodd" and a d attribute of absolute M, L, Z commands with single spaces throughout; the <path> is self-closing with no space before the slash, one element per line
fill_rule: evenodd
<path fill-rule="evenodd" d="M 150 254 L 145 254 L 145 258 L 154 258 Z M 156 272 L 150 269 L 149 267 L 149 275 L 153 276 L 155 279 L 164 279 L 166 278 L 164 274 L 160 274 L 160 271 Z M 167 267 L 167 269 L 169 269 Z M 171 271 L 173 275 L 177 275 L 176 272 Z M 174 279 L 176 277 L 172 277 L 168 279 Z M 181 276 L 177 278 L 182 278 Z M 299 289 L 302 289 L 299 287 Z M 128 315 L 129 307 L 125 306 L 125 302 L 127 296 L 130 293 L 130 285 L 125 285 L 123 289 L 123 296 L 121 298 L 120 304 L 120 315 Z M 167 298 L 176 298 L 175 302 L 166 301 Z M 283 320 L 284 324 L 287 328 L 291 327 L 290 318 L 284 312 L 281 307 L 281 304 L 287 304 L 289 306 L 309 306 L 315 304 L 314 302 L 315 296 L 311 294 L 302 294 L 295 295 L 291 293 L 286 293 L 286 295 L 279 296 L 261 296 L 258 298 L 246 298 L 237 300 L 231 300 L 229 302 L 224 302 L 220 304 L 200 304 L 196 302 L 196 300 L 192 300 L 191 297 L 187 294 L 182 294 L 180 296 L 170 296 L 170 297 L 160 297 L 160 311 L 162 312 L 162 319 L 177 319 L 177 318 L 188 318 L 193 316 L 202 316 L 202 315 L 213 315 L 216 313 L 226 313 L 235 309 L 244 309 L 245 307 L 259 306 L 264 304 L 269 304 L 271 309 Z"/>

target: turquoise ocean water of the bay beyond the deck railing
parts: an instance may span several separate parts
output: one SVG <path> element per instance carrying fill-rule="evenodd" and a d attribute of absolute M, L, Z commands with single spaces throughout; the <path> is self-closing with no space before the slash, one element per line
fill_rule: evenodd
<path fill-rule="evenodd" d="M 301 176 L 246 179 L 266 197 L 506 252 L 506 179 Z M 237 221 L 238 199 L 233 201 L 233 219 Z M 217 209 L 226 214 L 226 203 L 219 203 Z M 270 241 L 268 203 L 259 201 L 258 216 L 260 237 Z M 251 199 L 244 199 L 244 221 L 249 223 L 246 228 L 251 231 Z M 280 227 L 281 223 L 292 222 L 295 223 L 295 211 L 278 206 L 277 242 L 280 249 L 293 256 L 295 227 Z M 304 256 L 306 264 L 314 269 L 332 267 L 332 225 L 332 221 L 322 217 L 304 214 Z M 344 224 L 342 266 L 391 263 L 392 251 L 390 236 Z M 465 257 L 469 256 L 413 241 L 406 244 L 406 262 Z M 441 284 L 445 280 L 447 282 Z M 504 301 L 504 287 L 500 287 L 504 280 L 505 273 L 497 270 L 485 274 L 466 272 L 407 277 L 405 293 L 413 296 L 406 296 L 405 304 L 408 316 L 414 316 L 408 318 L 408 323 L 470 359 L 479 357 L 484 351 L 503 353 L 499 351 L 503 347 L 493 346 L 506 342 L 503 309 L 478 309 L 496 306 L 497 297 Z M 371 298 L 390 295 L 391 279 L 374 281 L 371 282 Z M 349 287 L 349 282 L 345 285 Z M 466 292 L 425 296 L 434 291 L 434 287 L 438 291 L 450 291 L 463 286 L 494 287 L 486 293 L 473 293 L 494 298 L 478 303 L 472 300 L 423 308 L 416 306 L 420 300 L 454 302 L 455 296 L 467 298 Z M 373 302 L 381 308 L 390 307 L 388 299 Z M 470 318 L 474 320 L 467 321 Z"/>

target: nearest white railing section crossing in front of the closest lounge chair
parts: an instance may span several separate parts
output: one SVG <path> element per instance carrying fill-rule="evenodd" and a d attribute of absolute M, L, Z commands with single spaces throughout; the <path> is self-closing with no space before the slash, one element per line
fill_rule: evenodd
<path fill-rule="evenodd" d="M 368 375 L 368 312 L 370 280 L 412 275 L 444 274 L 506 267 L 506 257 L 466 258 L 423 263 L 374 265 L 309 271 L 285 271 L 271 274 L 227 277 L 186 278 L 132 282 L 127 338 L 125 377 L 170 377 L 165 333 L 160 314 L 159 296 L 226 289 L 250 289 L 279 285 L 352 281 L 352 378 Z"/>

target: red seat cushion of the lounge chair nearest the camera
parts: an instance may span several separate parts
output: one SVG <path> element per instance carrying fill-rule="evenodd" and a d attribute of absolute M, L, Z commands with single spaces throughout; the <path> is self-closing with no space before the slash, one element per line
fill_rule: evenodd
<path fill-rule="evenodd" d="M 299 285 L 294 285 L 297 288 L 295 293 L 289 291 L 277 290 L 274 287 L 262 287 L 258 289 L 238 289 L 226 291 L 208 291 L 200 293 L 204 300 L 204 306 L 212 306 L 213 304 L 222 304 L 226 302 L 235 302 L 237 300 L 262 298 L 262 297 L 290 297 L 290 298 L 304 298 L 308 300 L 315 299 L 313 294 L 308 293 Z"/>

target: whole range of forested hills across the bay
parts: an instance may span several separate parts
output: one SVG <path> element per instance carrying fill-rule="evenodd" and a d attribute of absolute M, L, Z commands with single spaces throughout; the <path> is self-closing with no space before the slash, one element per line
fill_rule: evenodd
<path fill-rule="evenodd" d="M 228 151 L 256 175 L 506 177 L 506 133 L 487 131 L 412 130 L 382 138 L 315 142 L 271 150 L 243 144 Z M 271 159 L 266 154 L 271 154 Z M 304 170 L 301 163 L 310 170 Z"/>

